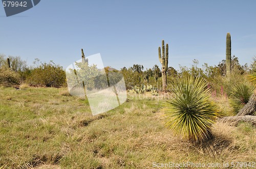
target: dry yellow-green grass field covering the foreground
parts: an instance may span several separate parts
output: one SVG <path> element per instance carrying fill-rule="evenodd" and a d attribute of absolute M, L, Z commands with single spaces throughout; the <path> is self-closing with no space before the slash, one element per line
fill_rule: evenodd
<path fill-rule="evenodd" d="M 223 114 L 230 114 L 227 99 L 215 99 Z M 165 128 L 161 96 L 130 95 L 121 106 L 97 116 L 87 100 L 69 96 L 65 88 L 0 88 L 0 100 L 1 169 L 256 161 L 255 127 L 217 123 L 214 138 L 187 143 Z"/>

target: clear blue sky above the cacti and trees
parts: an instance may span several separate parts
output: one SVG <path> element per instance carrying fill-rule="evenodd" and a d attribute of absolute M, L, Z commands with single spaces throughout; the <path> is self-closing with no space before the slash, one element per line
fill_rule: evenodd
<path fill-rule="evenodd" d="M 32 64 L 53 60 L 66 68 L 100 53 L 104 66 L 151 68 L 158 46 L 169 44 L 169 66 L 218 65 L 225 59 L 226 33 L 232 55 L 250 64 L 256 55 L 256 1 L 61 1 L 41 0 L 6 17 L 0 7 L 0 53 Z"/>

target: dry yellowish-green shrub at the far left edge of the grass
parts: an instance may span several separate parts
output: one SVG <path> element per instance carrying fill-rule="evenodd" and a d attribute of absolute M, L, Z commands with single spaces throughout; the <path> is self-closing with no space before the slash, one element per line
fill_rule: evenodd
<path fill-rule="evenodd" d="M 10 87 L 18 85 L 20 76 L 18 73 L 11 71 L 8 68 L 0 68 L 0 86 Z"/>

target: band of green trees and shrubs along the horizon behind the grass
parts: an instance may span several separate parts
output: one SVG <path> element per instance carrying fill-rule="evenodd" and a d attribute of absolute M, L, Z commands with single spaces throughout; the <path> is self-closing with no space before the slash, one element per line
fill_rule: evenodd
<path fill-rule="evenodd" d="M 8 80 L 18 85 L 20 83 L 28 83 L 30 86 L 46 86 L 46 87 L 66 87 L 66 73 L 65 70 L 59 65 L 50 61 L 49 63 L 42 63 L 39 59 L 35 59 L 33 66 L 28 66 L 27 62 L 22 60 L 20 57 L 9 56 L 10 68 L 7 68 L 7 57 L 5 55 L 0 55 L 0 83 L 8 83 Z M 222 60 L 218 65 L 208 66 L 208 64 L 203 64 L 198 67 L 199 61 L 194 60 L 190 68 L 186 66 L 181 66 L 180 69 L 176 70 L 173 67 L 168 67 L 167 69 L 167 81 L 172 80 L 172 77 L 183 76 L 183 75 L 193 75 L 199 76 L 207 79 L 212 87 L 215 87 L 218 81 L 216 77 L 224 77 L 226 75 L 226 61 Z M 108 67 L 110 68 L 110 67 Z M 251 72 L 252 68 L 247 64 L 240 65 L 239 59 L 235 56 L 231 58 L 231 68 L 233 72 L 243 75 Z M 14 79 L 5 78 L 3 70 L 9 71 Z M 105 69 L 105 71 L 108 69 Z M 12 73 L 10 73 L 12 72 Z M 132 89 L 134 86 L 141 85 L 152 85 L 159 90 L 162 90 L 162 73 L 158 65 L 154 65 L 152 68 L 144 68 L 143 65 L 134 64 L 132 67 L 123 67 L 120 70 L 112 69 L 110 72 L 119 72 L 115 77 L 112 73 L 112 78 L 120 79 L 120 73 L 123 74 L 126 89 Z M 5 72 L 6 73 L 6 72 Z M 98 72 L 99 73 L 99 72 Z M 7 73 L 8 74 L 8 73 Z M 6 74 L 6 76 L 7 76 Z M 103 81 L 105 77 L 101 75 L 95 76 L 96 84 L 92 88 L 102 88 L 106 86 Z M 1 80 L 2 79 L 2 80 Z M 102 79 L 102 80 L 101 80 Z M 2 81 L 2 82 L 1 82 Z"/>

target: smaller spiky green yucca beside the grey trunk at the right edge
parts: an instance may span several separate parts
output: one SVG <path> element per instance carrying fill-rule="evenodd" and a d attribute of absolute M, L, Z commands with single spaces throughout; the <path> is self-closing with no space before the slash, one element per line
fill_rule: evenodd
<path fill-rule="evenodd" d="M 250 100 L 254 87 L 241 83 L 231 89 L 231 105 L 234 112 L 238 112 Z"/>

